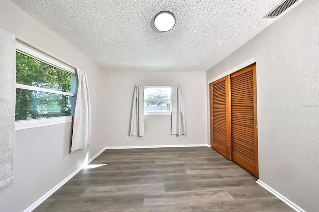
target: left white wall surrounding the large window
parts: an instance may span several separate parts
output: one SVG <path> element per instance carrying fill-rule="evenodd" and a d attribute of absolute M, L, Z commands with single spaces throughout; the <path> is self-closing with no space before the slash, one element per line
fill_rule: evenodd
<path fill-rule="evenodd" d="M 105 71 L 11 1 L 0 1 L 0 27 L 88 75 L 92 144 L 69 154 L 71 123 L 16 131 L 14 184 L 0 190 L 0 211 L 23 211 L 105 147 Z"/>

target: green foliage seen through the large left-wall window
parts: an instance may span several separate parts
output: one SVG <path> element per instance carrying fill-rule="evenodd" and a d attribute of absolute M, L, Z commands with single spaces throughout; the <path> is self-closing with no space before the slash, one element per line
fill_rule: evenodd
<path fill-rule="evenodd" d="M 16 52 L 15 120 L 71 115 L 75 75 Z"/>

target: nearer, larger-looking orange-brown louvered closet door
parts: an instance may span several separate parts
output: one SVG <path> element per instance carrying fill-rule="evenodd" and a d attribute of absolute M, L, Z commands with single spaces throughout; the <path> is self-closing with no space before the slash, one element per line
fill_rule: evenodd
<path fill-rule="evenodd" d="M 258 177 L 256 64 L 230 75 L 232 160 Z"/>

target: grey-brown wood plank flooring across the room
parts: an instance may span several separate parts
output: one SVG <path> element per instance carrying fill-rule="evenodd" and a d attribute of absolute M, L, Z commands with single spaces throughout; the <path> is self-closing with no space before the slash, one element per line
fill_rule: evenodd
<path fill-rule="evenodd" d="M 106 150 L 34 212 L 293 212 L 208 147 Z"/>

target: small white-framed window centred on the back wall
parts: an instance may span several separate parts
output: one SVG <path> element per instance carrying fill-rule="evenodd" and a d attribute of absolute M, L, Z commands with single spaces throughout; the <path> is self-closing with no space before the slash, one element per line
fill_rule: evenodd
<path fill-rule="evenodd" d="M 171 115 L 171 86 L 144 86 L 144 114 Z"/>

